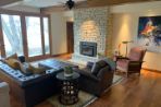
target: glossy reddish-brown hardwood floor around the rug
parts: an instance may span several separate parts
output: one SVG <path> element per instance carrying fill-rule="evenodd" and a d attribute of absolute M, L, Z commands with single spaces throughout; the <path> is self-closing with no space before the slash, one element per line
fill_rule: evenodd
<path fill-rule="evenodd" d="M 63 56 L 60 58 L 69 58 Z M 21 107 L 11 96 L 11 107 Z M 44 102 L 35 107 L 53 107 Z M 161 73 L 141 70 L 111 87 L 88 107 L 161 107 Z"/>

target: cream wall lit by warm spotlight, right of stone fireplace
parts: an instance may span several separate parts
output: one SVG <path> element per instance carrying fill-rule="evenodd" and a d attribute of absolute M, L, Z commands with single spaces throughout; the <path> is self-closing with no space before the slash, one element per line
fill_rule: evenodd
<path fill-rule="evenodd" d="M 121 8 L 113 7 L 111 11 L 113 12 L 113 49 L 115 49 L 117 45 L 121 44 L 123 40 L 134 40 L 133 44 L 129 44 L 129 49 L 131 47 L 138 46 L 138 19 L 139 16 L 161 15 L 161 11 L 158 11 L 161 7 L 157 8 L 158 4 L 161 5 L 161 2 L 150 4 L 152 7 L 150 7 L 149 10 L 145 10 L 145 7 L 147 7 L 147 4 L 144 3 L 143 5 L 131 4 L 129 7 L 122 5 Z M 125 46 L 123 45 L 121 52 L 123 55 L 125 52 Z M 146 61 L 143 66 L 144 68 L 161 71 L 161 54 L 148 51 L 144 60 Z"/>

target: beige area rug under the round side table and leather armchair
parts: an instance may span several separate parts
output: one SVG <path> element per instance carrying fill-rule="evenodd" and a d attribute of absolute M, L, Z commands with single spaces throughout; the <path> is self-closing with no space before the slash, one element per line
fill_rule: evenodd
<path fill-rule="evenodd" d="M 112 85 L 120 83 L 122 80 L 123 80 L 122 76 L 114 75 Z M 48 102 L 50 104 L 52 104 L 53 107 L 86 107 L 87 105 L 94 103 L 98 98 L 97 96 L 86 93 L 86 92 L 83 92 L 83 91 L 79 91 L 78 97 L 79 97 L 79 100 L 76 104 L 70 105 L 70 106 L 64 106 L 64 105 L 60 104 L 59 96 L 57 96 L 57 95 L 50 97 L 48 99 Z"/>

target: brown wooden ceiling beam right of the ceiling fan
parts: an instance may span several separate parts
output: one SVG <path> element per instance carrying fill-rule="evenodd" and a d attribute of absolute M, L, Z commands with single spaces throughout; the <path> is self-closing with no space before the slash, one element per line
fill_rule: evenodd
<path fill-rule="evenodd" d="M 104 5 L 146 2 L 146 1 L 160 1 L 160 0 L 87 0 L 87 4 L 89 7 L 104 7 Z"/>

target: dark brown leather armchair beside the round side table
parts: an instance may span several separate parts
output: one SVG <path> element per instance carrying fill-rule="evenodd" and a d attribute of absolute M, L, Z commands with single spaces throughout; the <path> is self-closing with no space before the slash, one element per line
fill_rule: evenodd
<path fill-rule="evenodd" d="M 106 66 L 95 75 L 91 73 L 91 62 L 88 62 L 84 69 L 75 68 L 75 71 L 81 74 L 78 85 L 81 90 L 100 96 L 109 86 L 111 86 L 113 70 L 111 70 L 110 66 Z"/>

